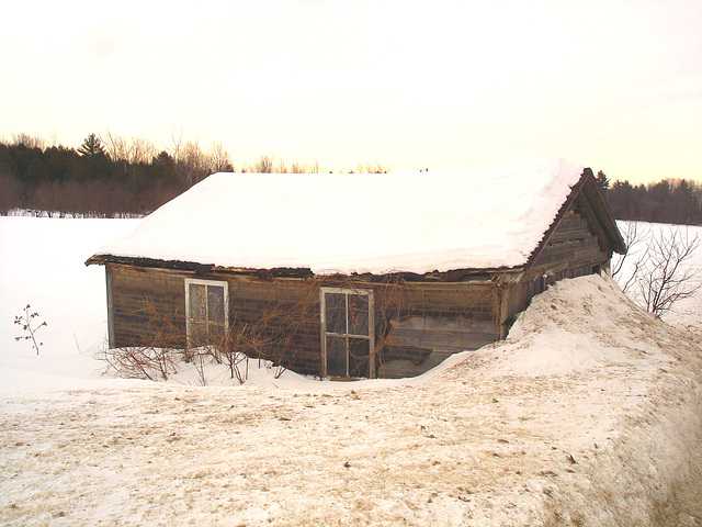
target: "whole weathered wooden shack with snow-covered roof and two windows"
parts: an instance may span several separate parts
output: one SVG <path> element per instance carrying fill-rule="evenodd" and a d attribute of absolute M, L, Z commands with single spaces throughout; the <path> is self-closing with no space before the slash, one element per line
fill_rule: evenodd
<path fill-rule="evenodd" d="M 217 173 L 86 264 L 105 266 L 111 347 L 216 343 L 321 378 L 393 378 L 505 338 L 534 294 L 608 271 L 613 251 L 592 171 L 554 158 Z"/>

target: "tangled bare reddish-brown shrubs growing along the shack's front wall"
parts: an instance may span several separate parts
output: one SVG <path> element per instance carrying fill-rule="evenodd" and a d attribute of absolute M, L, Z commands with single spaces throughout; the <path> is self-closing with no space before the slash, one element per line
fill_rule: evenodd
<path fill-rule="evenodd" d="M 262 280 L 268 278 L 263 277 Z M 260 362 L 265 360 L 272 363 L 273 377 L 278 379 L 286 369 L 298 363 L 299 354 L 318 346 L 320 288 L 329 287 L 360 293 L 373 291 L 374 345 L 347 349 L 354 363 L 353 373 L 349 370 L 348 374 L 365 377 L 378 371 L 387 360 L 404 360 L 404 348 L 397 347 L 398 323 L 411 316 L 432 316 L 423 311 L 422 305 L 428 304 L 422 296 L 422 289 L 412 287 L 401 274 L 382 278 L 344 274 L 309 278 L 301 282 L 301 285 L 304 283 L 304 292 L 296 289 L 295 296 L 290 296 L 291 290 L 287 288 L 281 288 L 280 294 L 275 293 L 276 282 L 270 283 L 272 291 L 253 300 L 251 305 L 256 307 L 252 311 L 235 309 L 229 313 L 226 325 L 208 324 L 214 327 L 208 327 L 202 335 L 188 335 L 182 313 L 159 313 L 154 304 L 147 302 L 144 307 L 148 318 L 147 345 L 109 350 L 102 358 L 125 377 L 147 379 L 166 379 L 179 361 L 191 362 L 203 385 L 208 383 L 205 367 L 213 361 L 226 366 L 230 379 L 245 383 L 249 379 L 250 361 L 258 360 L 260 367 Z M 484 305 L 489 302 L 486 295 L 494 294 L 495 288 L 474 291 L 466 287 L 461 294 L 464 305 L 453 307 L 452 313 L 458 318 L 467 318 L 475 305 Z M 417 346 L 421 347 L 421 343 Z M 429 347 L 427 352 L 431 352 Z M 422 355 L 410 360 L 421 361 L 424 358 Z"/>

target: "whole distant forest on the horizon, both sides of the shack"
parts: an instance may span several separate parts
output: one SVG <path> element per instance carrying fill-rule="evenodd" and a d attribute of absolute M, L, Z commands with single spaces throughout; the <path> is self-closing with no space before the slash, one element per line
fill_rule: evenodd
<path fill-rule="evenodd" d="M 359 172 L 387 171 L 377 162 L 359 165 Z M 195 142 L 173 138 L 157 148 L 143 138 L 107 132 L 90 134 L 78 148 L 49 145 L 41 137 L 15 134 L 0 141 L 0 215 L 13 210 L 30 214 L 118 217 L 148 214 L 210 173 L 319 172 L 319 165 L 261 156 L 235 168 L 220 143 L 203 150 Z M 428 177 L 431 177 L 428 175 Z M 681 225 L 702 225 L 702 184 L 664 179 L 633 186 L 597 175 L 614 217 Z"/>

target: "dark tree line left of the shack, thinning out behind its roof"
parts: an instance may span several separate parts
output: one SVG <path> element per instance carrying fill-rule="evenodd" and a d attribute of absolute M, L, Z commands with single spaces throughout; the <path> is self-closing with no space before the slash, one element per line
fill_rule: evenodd
<path fill-rule="evenodd" d="M 158 148 L 148 139 L 107 132 L 90 134 L 78 148 L 70 148 L 14 134 L 11 141 L 0 139 L 0 215 L 15 209 L 57 215 L 143 215 L 211 173 L 235 170 L 217 142 L 203 149 L 197 142 L 172 137 L 171 145 Z M 319 165 L 288 166 L 262 155 L 238 171 L 318 172 Z"/>

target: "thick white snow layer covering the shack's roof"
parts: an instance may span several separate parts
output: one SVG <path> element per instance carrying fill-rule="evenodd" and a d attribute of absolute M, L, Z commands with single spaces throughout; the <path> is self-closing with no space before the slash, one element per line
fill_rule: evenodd
<path fill-rule="evenodd" d="M 98 255 L 315 273 L 511 268 L 582 167 L 547 158 L 393 173 L 215 173 Z"/>

